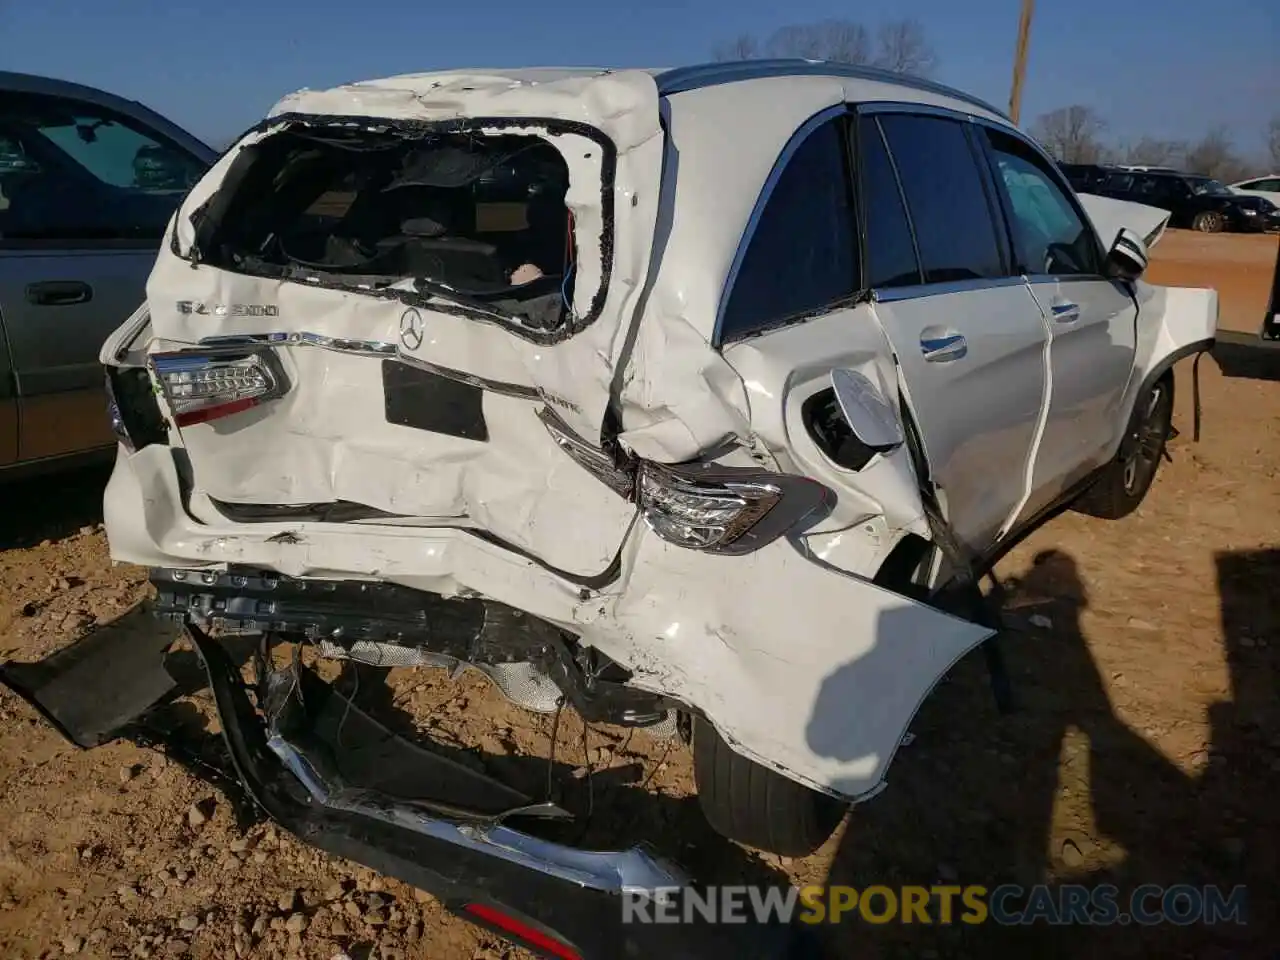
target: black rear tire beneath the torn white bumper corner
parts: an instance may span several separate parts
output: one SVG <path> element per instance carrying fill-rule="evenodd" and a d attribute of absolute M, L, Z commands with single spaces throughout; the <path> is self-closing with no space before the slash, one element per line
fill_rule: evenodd
<path fill-rule="evenodd" d="M 806 856 L 832 835 L 847 804 L 749 760 L 694 718 L 698 803 L 722 837 L 782 856 Z"/>

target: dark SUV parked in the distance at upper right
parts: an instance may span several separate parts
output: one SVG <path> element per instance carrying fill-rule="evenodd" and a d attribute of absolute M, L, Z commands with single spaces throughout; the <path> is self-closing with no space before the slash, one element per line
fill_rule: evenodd
<path fill-rule="evenodd" d="M 1061 169 L 1078 193 L 1098 193 L 1169 210 L 1172 214 L 1170 227 L 1188 227 L 1202 233 L 1280 229 L 1280 209 L 1275 204 L 1263 197 L 1233 193 L 1211 177 L 1093 164 L 1062 164 Z"/>

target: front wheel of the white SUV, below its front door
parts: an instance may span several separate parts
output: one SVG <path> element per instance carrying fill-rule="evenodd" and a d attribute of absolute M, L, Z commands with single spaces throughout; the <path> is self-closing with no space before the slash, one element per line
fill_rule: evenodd
<path fill-rule="evenodd" d="M 1166 374 L 1138 397 L 1120 452 L 1073 508 L 1103 520 L 1120 520 L 1133 513 L 1160 470 L 1172 417 L 1174 376 Z"/>

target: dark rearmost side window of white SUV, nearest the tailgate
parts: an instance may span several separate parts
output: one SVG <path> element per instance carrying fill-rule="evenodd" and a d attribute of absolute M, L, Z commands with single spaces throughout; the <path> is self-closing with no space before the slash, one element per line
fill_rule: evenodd
<path fill-rule="evenodd" d="M 760 211 L 724 305 L 721 340 L 819 314 L 861 289 L 844 116 L 805 137 Z"/>

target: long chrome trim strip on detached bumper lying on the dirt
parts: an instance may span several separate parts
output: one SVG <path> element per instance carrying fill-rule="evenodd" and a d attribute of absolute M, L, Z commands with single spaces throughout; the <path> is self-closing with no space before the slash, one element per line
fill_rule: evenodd
<path fill-rule="evenodd" d="M 429 817 L 408 804 L 398 804 L 364 791 L 326 783 L 307 758 L 278 733 L 268 746 L 311 797 L 323 806 L 383 820 L 467 850 L 538 870 L 548 877 L 621 896 L 623 890 L 682 887 L 687 879 L 660 864 L 640 847 L 620 851 L 577 850 L 527 833 L 488 823 L 452 823 Z"/>

